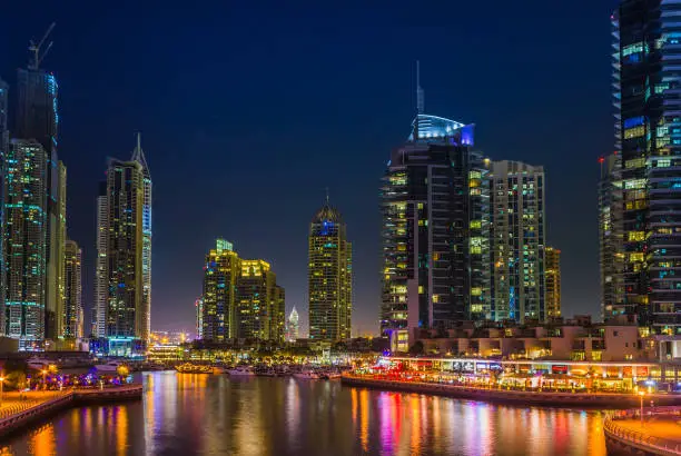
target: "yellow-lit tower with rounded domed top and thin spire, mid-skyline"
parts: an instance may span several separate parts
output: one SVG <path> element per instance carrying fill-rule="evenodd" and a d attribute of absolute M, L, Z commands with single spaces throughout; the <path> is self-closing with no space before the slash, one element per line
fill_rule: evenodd
<path fill-rule="evenodd" d="M 309 338 L 351 337 L 353 311 L 353 249 L 343 216 L 328 196 L 309 224 L 307 281 Z"/>

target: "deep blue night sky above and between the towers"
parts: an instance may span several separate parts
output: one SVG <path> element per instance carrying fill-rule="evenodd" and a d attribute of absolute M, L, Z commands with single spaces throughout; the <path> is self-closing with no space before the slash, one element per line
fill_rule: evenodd
<path fill-rule="evenodd" d="M 107 157 L 129 158 L 141 130 L 154 180 L 152 329 L 194 330 L 204 256 L 221 236 L 273 265 L 306 333 L 306 237 L 328 187 L 354 241 L 353 326 L 376 330 L 378 186 L 409 133 L 416 59 L 426 112 L 476 123 L 476 147 L 492 159 L 544 165 L 564 314 L 600 313 L 598 158 L 613 143 L 615 0 L 98 3 L 13 1 L 0 14 L 10 91 L 29 39 L 57 22 L 43 68 L 60 85 L 59 158 L 88 321 L 97 184 Z"/>

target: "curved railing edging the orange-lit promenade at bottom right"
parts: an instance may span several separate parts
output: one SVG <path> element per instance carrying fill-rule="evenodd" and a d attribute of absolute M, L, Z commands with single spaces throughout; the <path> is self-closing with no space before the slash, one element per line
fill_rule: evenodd
<path fill-rule="evenodd" d="M 648 414 L 643 413 L 643 416 L 681 416 L 681 408 L 679 407 L 655 407 L 654 412 L 649 410 Z M 603 430 L 610 436 L 616 437 L 620 442 L 628 445 L 631 444 L 639 448 L 651 450 L 655 454 L 679 454 L 681 455 L 681 444 L 679 442 L 669 440 L 662 437 L 654 437 L 644 433 L 625 429 L 622 426 L 618 426 L 616 422 L 622 419 L 633 419 L 641 416 L 638 410 L 628 410 L 624 413 L 615 413 L 605 417 L 603 423 Z"/>

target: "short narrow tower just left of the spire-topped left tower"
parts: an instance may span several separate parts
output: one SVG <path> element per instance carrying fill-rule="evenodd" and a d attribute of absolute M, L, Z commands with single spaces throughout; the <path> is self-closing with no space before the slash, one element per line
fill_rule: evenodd
<path fill-rule="evenodd" d="M 82 250 L 78 244 L 68 239 L 65 246 L 65 293 L 63 293 L 63 328 L 62 337 L 83 337 L 82 310 Z"/>

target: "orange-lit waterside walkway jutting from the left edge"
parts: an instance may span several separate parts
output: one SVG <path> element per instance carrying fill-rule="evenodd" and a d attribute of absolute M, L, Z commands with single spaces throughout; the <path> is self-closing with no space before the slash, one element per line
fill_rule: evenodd
<path fill-rule="evenodd" d="M 27 391 L 3 394 L 0 405 L 0 438 L 22 430 L 26 425 L 69 407 L 108 402 L 139 400 L 141 385 L 112 386 L 102 389 L 81 388 L 63 391 Z"/>

